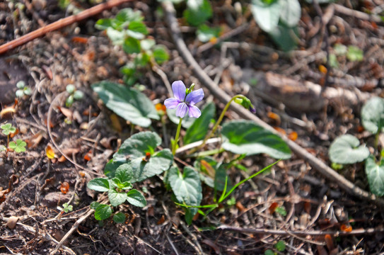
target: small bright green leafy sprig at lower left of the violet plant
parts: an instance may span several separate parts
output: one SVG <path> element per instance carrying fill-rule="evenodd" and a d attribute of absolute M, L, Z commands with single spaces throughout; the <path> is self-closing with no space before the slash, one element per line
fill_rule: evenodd
<path fill-rule="evenodd" d="M 120 167 L 115 171 L 115 177 L 110 179 L 96 178 L 88 182 L 87 187 L 94 191 L 107 192 L 109 205 L 98 202 L 91 203 L 91 208 L 95 210 L 96 220 L 105 220 L 112 215 L 112 207 L 117 207 L 122 203 L 128 202 L 131 205 L 144 207 L 146 199 L 144 196 L 132 188 L 134 171 L 130 166 Z M 124 214 L 118 212 L 113 216 L 117 223 L 124 222 Z"/>

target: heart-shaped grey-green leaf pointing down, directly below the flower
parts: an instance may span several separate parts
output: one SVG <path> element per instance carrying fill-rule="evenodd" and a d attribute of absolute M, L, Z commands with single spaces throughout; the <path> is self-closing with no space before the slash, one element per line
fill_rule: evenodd
<path fill-rule="evenodd" d="M 168 181 L 176 199 L 185 205 L 200 205 L 202 201 L 202 184 L 199 174 L 189 166 L 184 168 L 182 174 L 177 167 L 168 171 Z M 197 208 L 188 208 L 191 214 L 197 212 Z"/>

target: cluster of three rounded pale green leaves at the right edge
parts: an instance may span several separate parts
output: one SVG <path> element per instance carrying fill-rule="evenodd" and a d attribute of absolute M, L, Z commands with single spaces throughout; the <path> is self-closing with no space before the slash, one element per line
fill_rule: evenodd
<path fill-rule="evenodd" d="M 340 168 L 343 164 L 355 164 L 365 161 L 365 171 L 371 192 L 384 196 L 384 151 L 378 152 L 378 137 L 384 128 L 384 99 L 374 97 L 361 108 L 363 127 L 376 136 L 376 152 L 369 152 L 365 145 L 353 135 L 341 135 L 331 144 L 328 152 L 332 166 Z M 377 157 L 379 159 L 377 159 Z"/>

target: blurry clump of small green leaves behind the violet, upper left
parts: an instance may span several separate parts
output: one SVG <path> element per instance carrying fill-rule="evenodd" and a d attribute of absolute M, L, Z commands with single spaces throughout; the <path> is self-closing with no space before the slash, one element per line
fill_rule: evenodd
<path fill-rule="evenodd" d="M 138 69 L 152 64 L 163 64 L 169 55 L 164 45 L 156 45 L 155 40 L 148 37 L 148 29 L 143 22 L 141 11 L 124 8 L 115 18 L 102 18 L 95 28 L 105 30 L 114 45 L 122 46 L 124 52 L 133 56 L 132 62 L 127 63 L 120 72 L 124 82 L 133 86 L 141 73 Z"/>

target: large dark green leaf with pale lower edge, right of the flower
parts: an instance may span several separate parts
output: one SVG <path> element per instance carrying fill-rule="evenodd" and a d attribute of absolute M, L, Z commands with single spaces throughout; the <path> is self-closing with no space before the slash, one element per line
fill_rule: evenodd
<path fill-rule="evenodd" d="M 265 153 L 274 159 L 289 159 L 291 149 L 278 135 L 250 120 L 232 120 L 223 125 L 223 149 L 235 154 Z"/>

